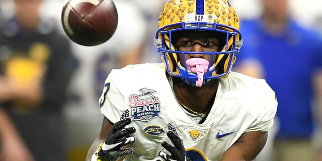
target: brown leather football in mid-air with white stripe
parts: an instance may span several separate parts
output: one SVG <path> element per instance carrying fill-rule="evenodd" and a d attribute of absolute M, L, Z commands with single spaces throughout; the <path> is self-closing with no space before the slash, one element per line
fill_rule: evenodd
<path fill-rule="evenodd" d="M 113 36 L 118 14 L 112 0 L 69 0 L 63 6 L 61 23 L 73 42 L 96 46 Z"/>

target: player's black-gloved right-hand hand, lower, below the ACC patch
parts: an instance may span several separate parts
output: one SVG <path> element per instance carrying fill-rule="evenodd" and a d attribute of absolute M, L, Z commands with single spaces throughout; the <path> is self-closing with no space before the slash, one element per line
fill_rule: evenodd
<path fill-rule="evenodd" d="M 166 161 L 190 161 L 190 158 L 186 156 L 186 149 L 183 146 L 183 142 L 180 139 L 180 137 L 175 134 L 173 131 L 168 131 L 167 132 L 168 137 L 174 144 L 172 146 L 169 144 L 167 141 L 164 141 L 161 143 L 161 145 L 167 149 L 171 155 L 167 154 L 165 151 L 161 150 L 159 151 L 158 155 L 165 159 Z M 160 160 L 157 160 L 160 161 Z"/>

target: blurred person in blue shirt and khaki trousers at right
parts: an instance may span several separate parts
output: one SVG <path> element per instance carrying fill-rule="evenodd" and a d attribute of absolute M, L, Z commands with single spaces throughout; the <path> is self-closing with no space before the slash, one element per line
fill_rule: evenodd
<path fill-rule="evenodd" d="M 314 120 L 313 111 L 322 110 L 322 40 L 292 19 L 289 1 L 261 3 L 260 17 L 241 20 L 244 45 L 233 70 L 265 78 L 276 92 L 279 129 L 272 160 L 314 160 L 312 138 L 320 120 Z"/>

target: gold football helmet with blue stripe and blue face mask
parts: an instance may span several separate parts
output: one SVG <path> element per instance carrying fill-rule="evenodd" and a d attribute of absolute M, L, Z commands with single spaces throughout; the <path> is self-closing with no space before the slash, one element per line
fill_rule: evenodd
<path fill-rule="evenodd" d="M 239 30 L 239 19 L 227 0 L 171 0 L 166 3 L 159 16 L 158 30 L 154 44 L 158 52 L 163 52 L 170 75 L 180 77 L 189 85 L 197 86 L 198 79 L 202 84 L 213 78 L 228 76 L 235 61 L 234 54 L 239 53 L 243 40 Z M 174 32 L 186 30 L 200 30 L 219 32 L 226 36 L 225 44 L 217 52 L 183 52 L 178 51 L 172 42 Z M 191 72 L 185 62 L 182 67 L 178 62 L 179 54 L 211 54 L 215 63 L 209 63 L 203 75 Z M 211 62 L 211 61 L 210 61 Z M 200 84 L 200 83 L 199 83 Z M 198 87 L 201 87 L 199 85 Z"/>

